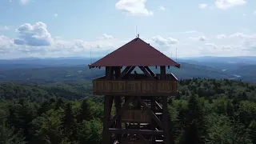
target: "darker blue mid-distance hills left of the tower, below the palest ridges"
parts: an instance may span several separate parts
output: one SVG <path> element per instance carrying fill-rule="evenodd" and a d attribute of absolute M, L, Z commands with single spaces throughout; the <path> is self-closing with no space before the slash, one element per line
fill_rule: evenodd
<path fill-rule="evenodd" d="M 0 70 L 0 82 L 76 82 L 91 80 L 104 74 L 103 69 L 89 69 L 88 66 L 58 66 L 43 68 L 26 68 L 15 70 Z"/>

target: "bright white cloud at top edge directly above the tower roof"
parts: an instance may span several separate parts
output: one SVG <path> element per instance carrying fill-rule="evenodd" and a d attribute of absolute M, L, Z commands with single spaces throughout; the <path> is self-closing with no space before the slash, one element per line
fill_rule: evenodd
<path fill-rule="evenodd" d="M 150 16 L 153 11 L 147 10 L 146 0 L 119 0 L 115 4 L 117 10 L 134 16 Z"/>

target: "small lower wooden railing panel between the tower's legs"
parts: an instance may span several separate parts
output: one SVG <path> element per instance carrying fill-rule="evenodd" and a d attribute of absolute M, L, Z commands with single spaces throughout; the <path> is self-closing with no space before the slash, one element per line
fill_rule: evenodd
<path fill-rule="evenodd" d="M 150 114 L 146 110 L 126 110 L 122 114 L 122 122 L 150 123 Z"/>

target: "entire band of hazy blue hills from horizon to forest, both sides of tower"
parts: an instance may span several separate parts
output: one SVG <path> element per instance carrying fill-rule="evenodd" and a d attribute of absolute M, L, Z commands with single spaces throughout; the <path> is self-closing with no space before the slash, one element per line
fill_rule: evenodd
<path fill-rule="evenodd" d="M 241 61 L 238 61 L 239 58 Z M 0 60 L 0 82 L 46 83 L 91 80 L 104 74 L 104 69 L 88 69 L 87 65 L 98 59 L 74 57 Z M 256 61 L 256 57 L 178 58 L 182 68 L 171 67 L 167 70 L 174 73 L 177 78 L 230 78 L 256 82 L 255 66 L 250 64 L 254 60 Z M 159 72 L 155 67 L 152 67 L 152 70 Z"/>

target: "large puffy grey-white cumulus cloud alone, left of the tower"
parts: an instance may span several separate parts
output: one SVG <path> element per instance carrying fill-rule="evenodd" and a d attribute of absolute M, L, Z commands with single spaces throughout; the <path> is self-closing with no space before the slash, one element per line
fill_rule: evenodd
<path fill-rule="evenodd" d="M 25 23 L 16 30 L 18 38 L 14 39 L 14 43 L 16 45 L 50 46 L 52 38 L 46 28 L 43 22 L 37 22 L 34 25 Z"/>

